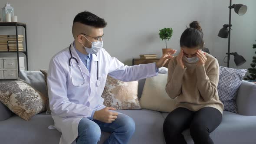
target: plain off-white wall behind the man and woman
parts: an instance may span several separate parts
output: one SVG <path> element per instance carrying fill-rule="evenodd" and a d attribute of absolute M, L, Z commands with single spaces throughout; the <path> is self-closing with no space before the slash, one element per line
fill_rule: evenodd
<path fill-rule="evenodd" d="M 139 54 L 161 56 L 164 41 L 159 29 L 172 27 L 173 37 L 167 46 L 180 50 L 179 39 L 193 20 L 201 23 L 205 45 L 220 65 L 227 52 L 227 39 L 217 36 L 228 23 L 229 0 L 1 0 L 14 7 L 20 22 L 27 24 L 30 70 L 48 69 L 49 60 L 73 41 L 71 27 L 75 15 L 83 10 L 104 18 L 104 48 L 121 62 L 131 65 Z M 249 68 L 256 43 L 256 0 L 233 0 L 248 6 L 244 16 L 232 10 L 231 52 L 243 55 L 247 62 L 238 68 Z M 0 12 L 0 17 L 1 17 Z M 22 29 L 20 29 L 21 31 Z M 14 34 L 0 27 L 0 34 Z M 237 68 L 231 56 L 230 67 Z"/>

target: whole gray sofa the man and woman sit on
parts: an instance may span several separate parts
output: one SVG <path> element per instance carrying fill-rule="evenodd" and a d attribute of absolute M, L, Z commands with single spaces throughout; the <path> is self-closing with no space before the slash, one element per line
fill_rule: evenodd
<path fill-rule="evenodd" d="M 144 82 L 139 81 L 139 96 Z M 220 126 L 210 134 L 215 144 L 256 144 L 256 84 L 243 81 L 236 104 L 239 114 L 224 111 Z M 129 115 L 136 124 L 129 144 L 165 144 L 162 125 L 167 113 L 146 109 L 119 112 Z M 25 121 L 0 102 L 0 144 L 59 144 L 61 133 L 48 129 L 53 124 L 51 115 L 45 112 Z M 188 144 L 194 144 L 188 130 L 183 134 Z M 99 144 L 103 144 L 108 136 L 102 132 Z"/>

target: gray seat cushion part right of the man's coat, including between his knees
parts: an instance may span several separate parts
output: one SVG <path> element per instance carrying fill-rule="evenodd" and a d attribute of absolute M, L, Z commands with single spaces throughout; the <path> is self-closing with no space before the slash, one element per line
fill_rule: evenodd
<path fill-rule="evenodd" d="M 165 144 L 162 130 L 164 118 L 160 112 L 145 109 L 119 110 L 118 112 L 130 116 L 135 121 L 135 133 L 128 144 Z M 109 135 L 102 132 L 98 144 L 103 144 Z"/>

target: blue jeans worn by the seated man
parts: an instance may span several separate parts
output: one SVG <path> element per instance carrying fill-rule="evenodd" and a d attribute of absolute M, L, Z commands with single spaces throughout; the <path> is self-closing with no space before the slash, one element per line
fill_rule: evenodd
<path fill-rule="evenodd" d="M 76 144 L 97 144 L 101 131 L 111 133 L 104 144 L 127 144 L 135 132 L 135 122 L 121 113 L 118 113 L 117 119 L 110 124 L 82 118 L 78 125 Z"/>

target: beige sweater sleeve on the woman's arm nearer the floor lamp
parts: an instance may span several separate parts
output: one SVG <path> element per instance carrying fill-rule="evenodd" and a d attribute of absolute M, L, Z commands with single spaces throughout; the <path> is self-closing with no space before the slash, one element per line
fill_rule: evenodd
<path fill-rule="evenodd" d="M 207 71 L 204 65 L 197 66 L 197 88 L 204 101 L 210 101 L 217 95 L 219 82 L 219 64 L 216 59 L 209 65 Z"/>

